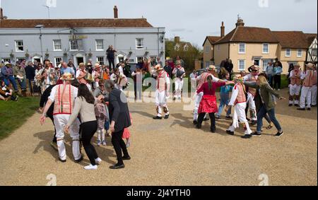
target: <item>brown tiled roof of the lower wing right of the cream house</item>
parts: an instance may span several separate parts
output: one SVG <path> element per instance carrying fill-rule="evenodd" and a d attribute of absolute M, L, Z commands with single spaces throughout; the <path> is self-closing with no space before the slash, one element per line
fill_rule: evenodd
<path fill-rule="evenodd" d="M 302 31 L 273 31 L 282 48 L 307 49 L 307 37 Z"/>

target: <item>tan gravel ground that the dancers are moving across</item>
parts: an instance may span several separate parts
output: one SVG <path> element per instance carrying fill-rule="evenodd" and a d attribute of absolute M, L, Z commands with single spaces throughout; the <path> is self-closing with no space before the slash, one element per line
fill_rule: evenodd
<path fill-rule="evenodd" d="M 287 96 L 287 90 L 281 93 Z M 49 145 L 52 122 L 41 127 L 40 114 L 34 114 L 0 142 L 0 185 L 46 185 L 50 174 L 57 185 L 259 185 L 261 174 L 269 185 L 317 185 L 316 107 L 300 112 L 290 109 L 287 100 L 278 102 L 276 115 L 285 135 L 276 139 L 272 129 L 251 140 L 240 139 L 242 131 L 225 134 L 230 124 L 225 119 L 217 122 L 217 134 L 208 131 L 208 124 L 194 129 L 192 112 L 182 110 L 181 103 L 170 104 L 170 119 L 161 121 L 151 119 L 152 103 L 129 107 L 132 160 L 123 170 L 109 169 L 116 162 L 110 138 L 108 146 L 96 147 L 103 160 L 98 170 L 83 170 L 86 155 L 82 163 L 73 162 L 69 137 L 68 160 L 60 163 Z"/>

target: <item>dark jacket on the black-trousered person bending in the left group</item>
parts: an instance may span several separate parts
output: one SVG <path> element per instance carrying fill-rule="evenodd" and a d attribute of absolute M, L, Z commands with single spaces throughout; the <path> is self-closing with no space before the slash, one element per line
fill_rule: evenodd
<path fill-rule="evenodd" d="M 115 122 L 115 132 L 122 131 L 131 126 L 127 99 L 121 90 L 114 89 L 110 92 L 110 122 Z"/>

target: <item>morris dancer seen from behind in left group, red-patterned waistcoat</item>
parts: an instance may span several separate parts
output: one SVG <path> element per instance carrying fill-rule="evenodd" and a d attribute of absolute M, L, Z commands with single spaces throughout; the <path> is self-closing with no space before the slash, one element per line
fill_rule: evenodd
<path fill-rule="evenodd" d="M 51 94 L 49 95 L 49 100 L 47 100 L 47 104 L 43 110 L 42 117 L 40 117 L 40 123 L 45 123 L 47 110 L 49 110 L 49 107 L 54 102 L 53 118 L 54 126 L 57 131 L 57 148 L 59 151 L 59 160 L 62 163 L 65 163 L 66 149 L 64 144 L 64 127 L 71 116 L 73 102 L 77 97 L 78 89 L 74 86 L 71 86 L 70 82 L 73 80 L 71 73 L 64 73 L 60 79 L 64 81 L 64 83 L 52 88 Z M 71 124 L 71 129 L 69 130 L 71 138 L 73 139 L 72 150 L 76 163 L 79 163 L 81 160 L 83 160 L 80 152 L 79 124 L 79 120 L 76 119 L 75 122 Z"/>

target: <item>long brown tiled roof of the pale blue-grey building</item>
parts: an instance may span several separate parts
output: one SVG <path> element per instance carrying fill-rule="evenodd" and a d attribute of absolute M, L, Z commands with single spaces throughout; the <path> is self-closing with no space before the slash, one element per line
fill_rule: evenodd
<path fill-rule="evenodd" d="M 5 19 L 0 20 L 0 28 L 146 28 L 153 27 L 146 18 L 116 19 Z"/>

